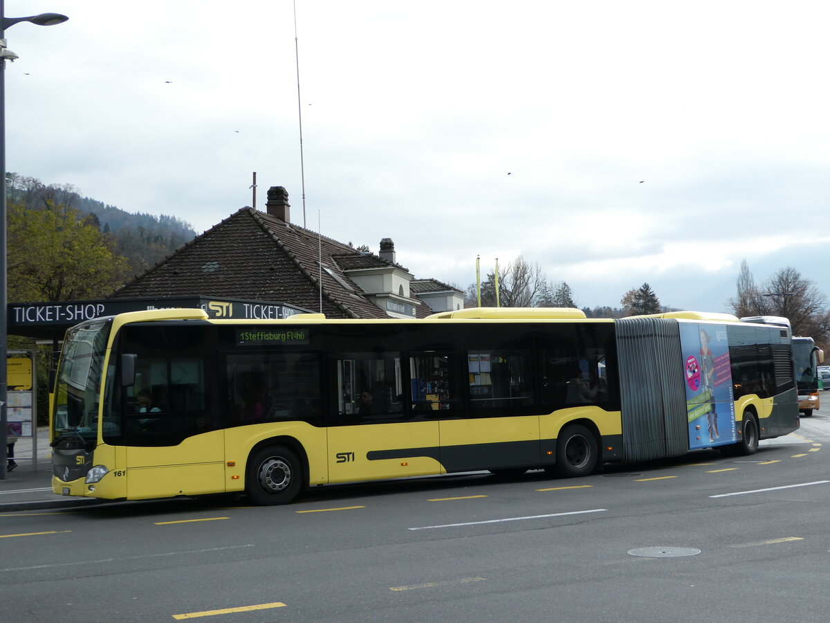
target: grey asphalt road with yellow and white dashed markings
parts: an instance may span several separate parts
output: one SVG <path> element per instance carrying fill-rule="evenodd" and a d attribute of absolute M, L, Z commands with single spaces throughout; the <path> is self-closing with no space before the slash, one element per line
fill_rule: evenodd
<path fill-rule="evenodd" d="M 827 621 L 828 444 L 830 408 L 752 457 L 707 450 L 589 478 L 2 513 L 2 618 Z"/>

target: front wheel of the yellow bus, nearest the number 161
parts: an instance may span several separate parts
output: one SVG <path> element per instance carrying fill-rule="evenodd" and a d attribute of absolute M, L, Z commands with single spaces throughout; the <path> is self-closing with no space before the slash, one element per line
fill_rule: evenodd
<path fill-rule="evenodd" d="M 297 455 L 281 445 L 257 450 L 248 461 L 245 493 L 260 506 L 287 504 L 297 497 L 303 468 Z"/>

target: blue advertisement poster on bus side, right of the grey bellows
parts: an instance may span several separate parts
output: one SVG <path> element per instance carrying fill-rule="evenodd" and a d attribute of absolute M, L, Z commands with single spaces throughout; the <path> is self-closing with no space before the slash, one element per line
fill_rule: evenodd
<path fill-rule="evenodd" d="M 735 443 L 735 403 L 724 325 L 681 323 L 689 448 Z"/>

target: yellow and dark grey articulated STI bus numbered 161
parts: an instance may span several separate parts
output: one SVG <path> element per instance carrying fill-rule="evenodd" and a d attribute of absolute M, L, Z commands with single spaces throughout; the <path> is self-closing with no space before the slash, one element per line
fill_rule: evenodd
<path fill-rule="evenodd" d="M 107 499 L 544 469 L 717 447 L 798 428 L 789 330 L 672 312 L 474 308 L 422 320 L 211 320 L 130 312 L 68 331 L 52 488 Z"/>

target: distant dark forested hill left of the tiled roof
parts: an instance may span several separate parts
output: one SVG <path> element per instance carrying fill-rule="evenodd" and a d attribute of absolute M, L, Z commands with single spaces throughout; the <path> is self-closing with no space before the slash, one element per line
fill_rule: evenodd
<path fill-rule="evenodd" d="M 43 184 L 39 179 L 6 175 L 8 204 L 38 210 L 48 204 L 76 209 L 80 218 L 107 234 L 115 254 L 127 259 L 136 273 L 189 242 L 196 236 L 190 223 L 162 214 L 129 213 L 113 205 L 81 196 L 71 184 Z"/>

